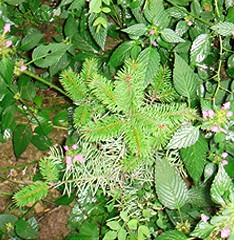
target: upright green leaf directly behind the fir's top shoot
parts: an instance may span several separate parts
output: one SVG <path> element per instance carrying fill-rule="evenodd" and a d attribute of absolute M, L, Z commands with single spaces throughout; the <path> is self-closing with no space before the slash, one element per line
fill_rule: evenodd
<path fill-rule="evenodd" d="M 138 55 L 137 61 L 145 69 L 145 84 L 148 85 L 159 70 L 160 55 L 155 48 L 148 47 Z"/>

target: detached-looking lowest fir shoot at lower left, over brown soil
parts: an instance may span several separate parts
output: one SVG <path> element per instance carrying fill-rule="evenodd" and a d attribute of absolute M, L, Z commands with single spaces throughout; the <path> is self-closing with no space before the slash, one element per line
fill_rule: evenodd
<path fill-rule="evenodd" d="M 41 181 L 28 185 L 18 191 L 13 199 L 18 207 L 24 207 L 27 204 L 34 203 L 44 198 L 48 194 L 49 186 Z"/>

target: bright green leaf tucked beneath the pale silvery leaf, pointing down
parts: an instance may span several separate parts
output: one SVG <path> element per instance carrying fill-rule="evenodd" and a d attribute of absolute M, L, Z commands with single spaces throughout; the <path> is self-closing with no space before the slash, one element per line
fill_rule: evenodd
<path fill-rule="evenodd" d="M 199 181 L 204 170 L 207 151 L 208 144 L 203 136 L 192 146 L 180 150 L 185 167 L 196 183 Z"/>

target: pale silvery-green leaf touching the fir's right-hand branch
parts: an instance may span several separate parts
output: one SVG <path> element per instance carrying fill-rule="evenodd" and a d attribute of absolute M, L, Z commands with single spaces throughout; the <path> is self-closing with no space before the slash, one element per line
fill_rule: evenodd
<path fill-rule="evenodd" d="M 180 127 L 168 143 L 168 148 L 181 149 L 192 146 L 199 138 L 199 129 L 194 126 Z"/>

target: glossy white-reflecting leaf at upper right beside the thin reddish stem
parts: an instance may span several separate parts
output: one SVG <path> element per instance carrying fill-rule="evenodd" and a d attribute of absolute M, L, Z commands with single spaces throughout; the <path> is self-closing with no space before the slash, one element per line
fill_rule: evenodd
<path fill-rule="evenodd" d="M 211 41 L 209 34 L 201 34 L 195 38 L 191 47 L 191 64 L 202 62 L 211 50 Z"/>

